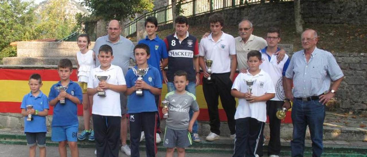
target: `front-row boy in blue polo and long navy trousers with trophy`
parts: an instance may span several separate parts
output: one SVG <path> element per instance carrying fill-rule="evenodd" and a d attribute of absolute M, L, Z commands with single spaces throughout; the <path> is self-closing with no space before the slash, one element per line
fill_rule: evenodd
<path fill-rule="evenodd" d="M 162 80 L 159 70 L 147 62 L 150 57 L 148 45 L 137 44 L 134 48 L 134 55 L 137 65 L 130 69 L 125 76 L 127 85 L 126 95 L 129 95 L 127 112 L 130 115 L 131 156 L 139 156 L 139 142 L 141 131 L 143 130 L 145 134 L 146 156 L 155 157 L 157 152 L 155 129 L 158 111 L 155 95 L 161 94 Z M 142 80 L 137 80 L 138 76 L 134 72 L 138 69 L 148 70 Z M 137 95 L 137 90 L 142 90 L 142 95 Z"/>

